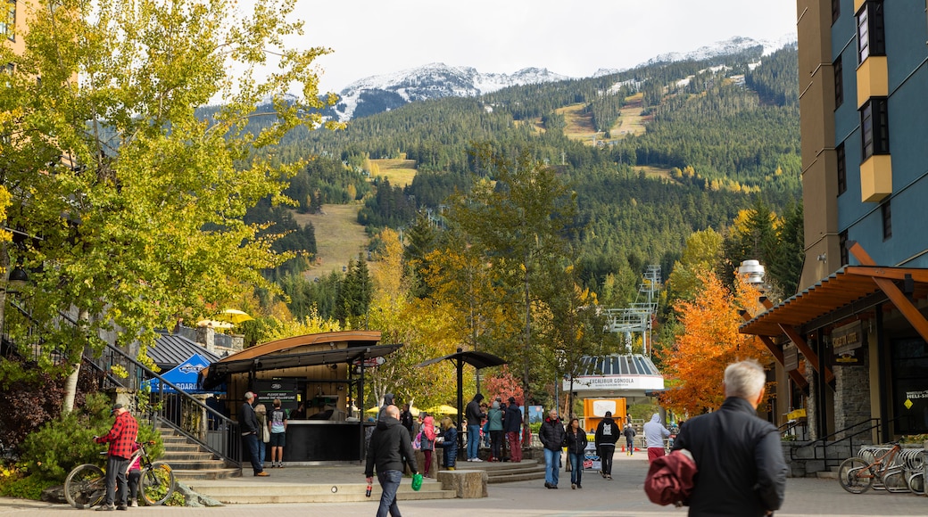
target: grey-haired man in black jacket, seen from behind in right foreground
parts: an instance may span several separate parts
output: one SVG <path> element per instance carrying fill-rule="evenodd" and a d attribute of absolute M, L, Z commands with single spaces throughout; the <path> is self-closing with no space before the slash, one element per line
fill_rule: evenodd
<path fill-rule="evenodd" d="M 674 449 L 692 453 L 699 472 L 690 495 L 690 516 L 763 516 L 780 510 L 786 461 L 780 433 L 757 417 L 767 375 L 754 360 L 725 369 L 725 402 L 719 410 L 687 421 Z"/>

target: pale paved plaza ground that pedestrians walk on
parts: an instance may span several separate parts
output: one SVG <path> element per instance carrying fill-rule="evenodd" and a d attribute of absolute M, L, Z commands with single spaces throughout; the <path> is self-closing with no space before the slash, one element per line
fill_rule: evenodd
<path fill-rule="evenodd" d="M 585 471 L 582 490 L 571 490 L 570 473 L 561 472 L 561 487 L 548 490 L 543 480 L 489 485 L 489 497 L 480 499 L 434 499 L 400 501 L 404 517 L 438 517 L 466 514 L 502 516 L 610 516 L 664 517 L 686 515 L 686 509 L 656 506 L 644 494 L 642 483 L 647 473 L 647 454 L 631 458 L 622 453 L 615 454 L 612 481 L 602 479 L 598 473 Z M 358 489 L 364 489 L 363 467 L 292 467 L 269 469 L 270 477 L 238 478 L 242 490 L 261 491 L 262 485 L 296 483 L 335 483 L 355 480 Z M 133 508 L 126 513 L 153 517 L 273 517 L 373 516 L 377 511 L 376 500 L 347 503 L 308 504 L 253 504 L 226 505 L 215 508 Z M 0 498 L 0 516 L 90 516 L 92 510 L 75 510 L 60 504 L 47 504 L 21 499 Z M 112 514 L 110 514 L 112 515 Z M 116 512 L 116 515 L 125 515 Z M 799 517 L 806 515 L 881 515 L 881 516 L 925 516 L 928 515 L 928 498 L 912 494 L 890 494 L 883 491 L 868 491 L 864 494 L 848 494 L 833 479 L 790 479 L 786 488 L 786 504 L 776 515 Z"/>

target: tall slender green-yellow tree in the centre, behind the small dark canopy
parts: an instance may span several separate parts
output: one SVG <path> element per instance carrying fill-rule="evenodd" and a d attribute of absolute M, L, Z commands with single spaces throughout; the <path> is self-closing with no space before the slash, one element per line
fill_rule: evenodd
<path fill-rule="evenodd" d="M 522 388 L 531 400 L 532 365 L 542 362 L 533 313 L 544 310 L 551 279 L 563 274 L 576 201 L 556 171 L 535 162 L 528 152 L 505 158 L 483 148 L 475 165 L 494 181 L 477 183 L 470 195 L 455 198 L 448 219 L 505 286 L 507 295 L 500 301 L 522 314 L 521 335 L 496 347 L 504 357 L 522 361 Z"/>

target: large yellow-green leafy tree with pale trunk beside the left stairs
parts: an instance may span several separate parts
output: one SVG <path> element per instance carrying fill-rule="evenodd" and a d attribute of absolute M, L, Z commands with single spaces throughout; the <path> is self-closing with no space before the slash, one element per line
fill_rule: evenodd
<path fill-rule="evenodd" d="M 9 249 L 33 284 L 31 319 L 7 317 L 7 331 L 65 357 L 64 410 L 101 335 L 144 350 L 153 329 L 208 314 L 242 284 L 270 287 L 260 271 L 290 259 L 242 217 L 265 196 L 282 200 L 300 166 L 255 151 L 318 127 L 331 100 L 318 98 L 313 67 L 328 50 L 283 47 L 302 31 L 294 5 L 54 0 L 30 13 L 21 55 L 0 46 L 0 62 L 15 64 L 0 90 L 6 221 L 33 237 Z M 269 58 L 277 67 L 262 79 Z M 263 131 L 246 132 L 259 118 Z"/>

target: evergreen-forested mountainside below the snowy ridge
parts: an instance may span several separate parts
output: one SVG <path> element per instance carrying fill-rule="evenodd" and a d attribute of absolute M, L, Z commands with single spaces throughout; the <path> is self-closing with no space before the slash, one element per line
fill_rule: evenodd
<path fill-rule="evenodd" d="M 291 132 L 274 153 L 322 157 L 292 180 L 301 209 L 364 199 L 359 221 L 401 227 L 485 175 L 475 146 L 512 156 L 528 149 L 577 194 L 574 245 L 586 284 L 599 290 L 612 274 L 634 285 L 645 264 L 669 274 L 690 233 L 720 229 L 758 200 L 782 213 L 801 197 L 796 51 L 760 53 L 412 103 L 352 120 L 341 132 Z M 559 107 L 584 104 L 596 129 L 608 132 L 636 94 L 650 116 L 643 134 L 589 145 L 561 131 Z M 366 183 L 367 158 L 412 159 L 418 173 L 405 188 Z M 649 178 L 638 169 L 645 166 L 670 172 Z"/>

